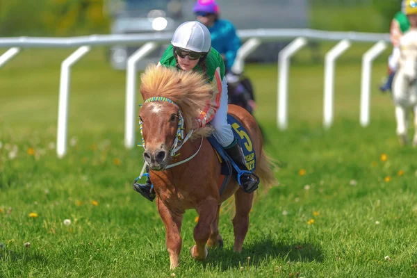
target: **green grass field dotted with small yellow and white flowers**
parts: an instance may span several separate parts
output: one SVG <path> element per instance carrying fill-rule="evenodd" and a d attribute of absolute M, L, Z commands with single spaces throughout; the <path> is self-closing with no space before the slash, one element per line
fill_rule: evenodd
<path fill-rule="evenodd" d="M 142 158 L 123 146 L 125 73 L 103 49 L 74 66 L 70 145 L 58 159 L 59 66 L 70 49 L 24 51 L 0 70 L 0 277 L 416 277 L 417 151 L 399 147 L 391 99 L 376 89 L 388 51 L 375 61 L 370 126 L 359 125 L 368 47 L 338 62 L 328 131 L 324 69 L 308 50 L 291 67 L 287 131 L 276 126 L 276 65 L 247 66 L 279 185 L 257 197 L 241 254 L 224 209 L 224 248 L 193 261 L 197 214 L 188 211 L 173 272 L 155 204 L 131 189 Z"/>

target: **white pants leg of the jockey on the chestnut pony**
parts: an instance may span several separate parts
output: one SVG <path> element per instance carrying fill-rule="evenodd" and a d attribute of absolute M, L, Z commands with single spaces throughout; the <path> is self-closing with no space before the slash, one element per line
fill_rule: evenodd
<path fill-rule="evenodd" d="M 234 135 L 231 131 L 230 124 L 227 123 L 227 80 L 223 77 L 222 81 L 222 97 L 220 97 L 220 107 L 216 111 L 213 120 L 210 121 L 211 126 L 214 128 L 213 136 L 220 142 L 222 147 L 229 146 L 233 140 Z"/>

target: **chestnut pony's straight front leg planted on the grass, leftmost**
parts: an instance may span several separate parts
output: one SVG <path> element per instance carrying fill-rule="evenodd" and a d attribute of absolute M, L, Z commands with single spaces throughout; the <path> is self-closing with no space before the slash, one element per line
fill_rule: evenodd
<path fill-rule="evenodd" d="M 182 245 L 180 233 L 183 215 L 173 213 L 159 198 L 156 199 L 156 204 L 163 224 L 165 224 L 165 243 L 168 253 L 170 253 L 170 269 L 174 269 L 179 265 L 179 253 L 181 252 Z"/>

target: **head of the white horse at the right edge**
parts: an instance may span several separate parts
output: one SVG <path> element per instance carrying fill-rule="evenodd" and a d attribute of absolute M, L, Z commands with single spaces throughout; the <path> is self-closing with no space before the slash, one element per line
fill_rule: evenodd
<path fill-rule="evenodd" d="M 400 40 L 400 69 L 410 83 L 417 80 L 417 29 L 411 29 Z"/>

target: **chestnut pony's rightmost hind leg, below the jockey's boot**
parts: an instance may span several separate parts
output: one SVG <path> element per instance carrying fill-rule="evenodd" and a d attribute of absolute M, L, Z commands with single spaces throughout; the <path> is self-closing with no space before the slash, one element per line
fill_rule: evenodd
<path fill-rule="evenodd" d="M 254 193 L 244 193 L 240 188 L 235 193 L 236 215 L 233 218 L 235 243 L 233 250 L 242 251 L 243 240 L 249 229 L 249 213 L 252 208 Z"/>

